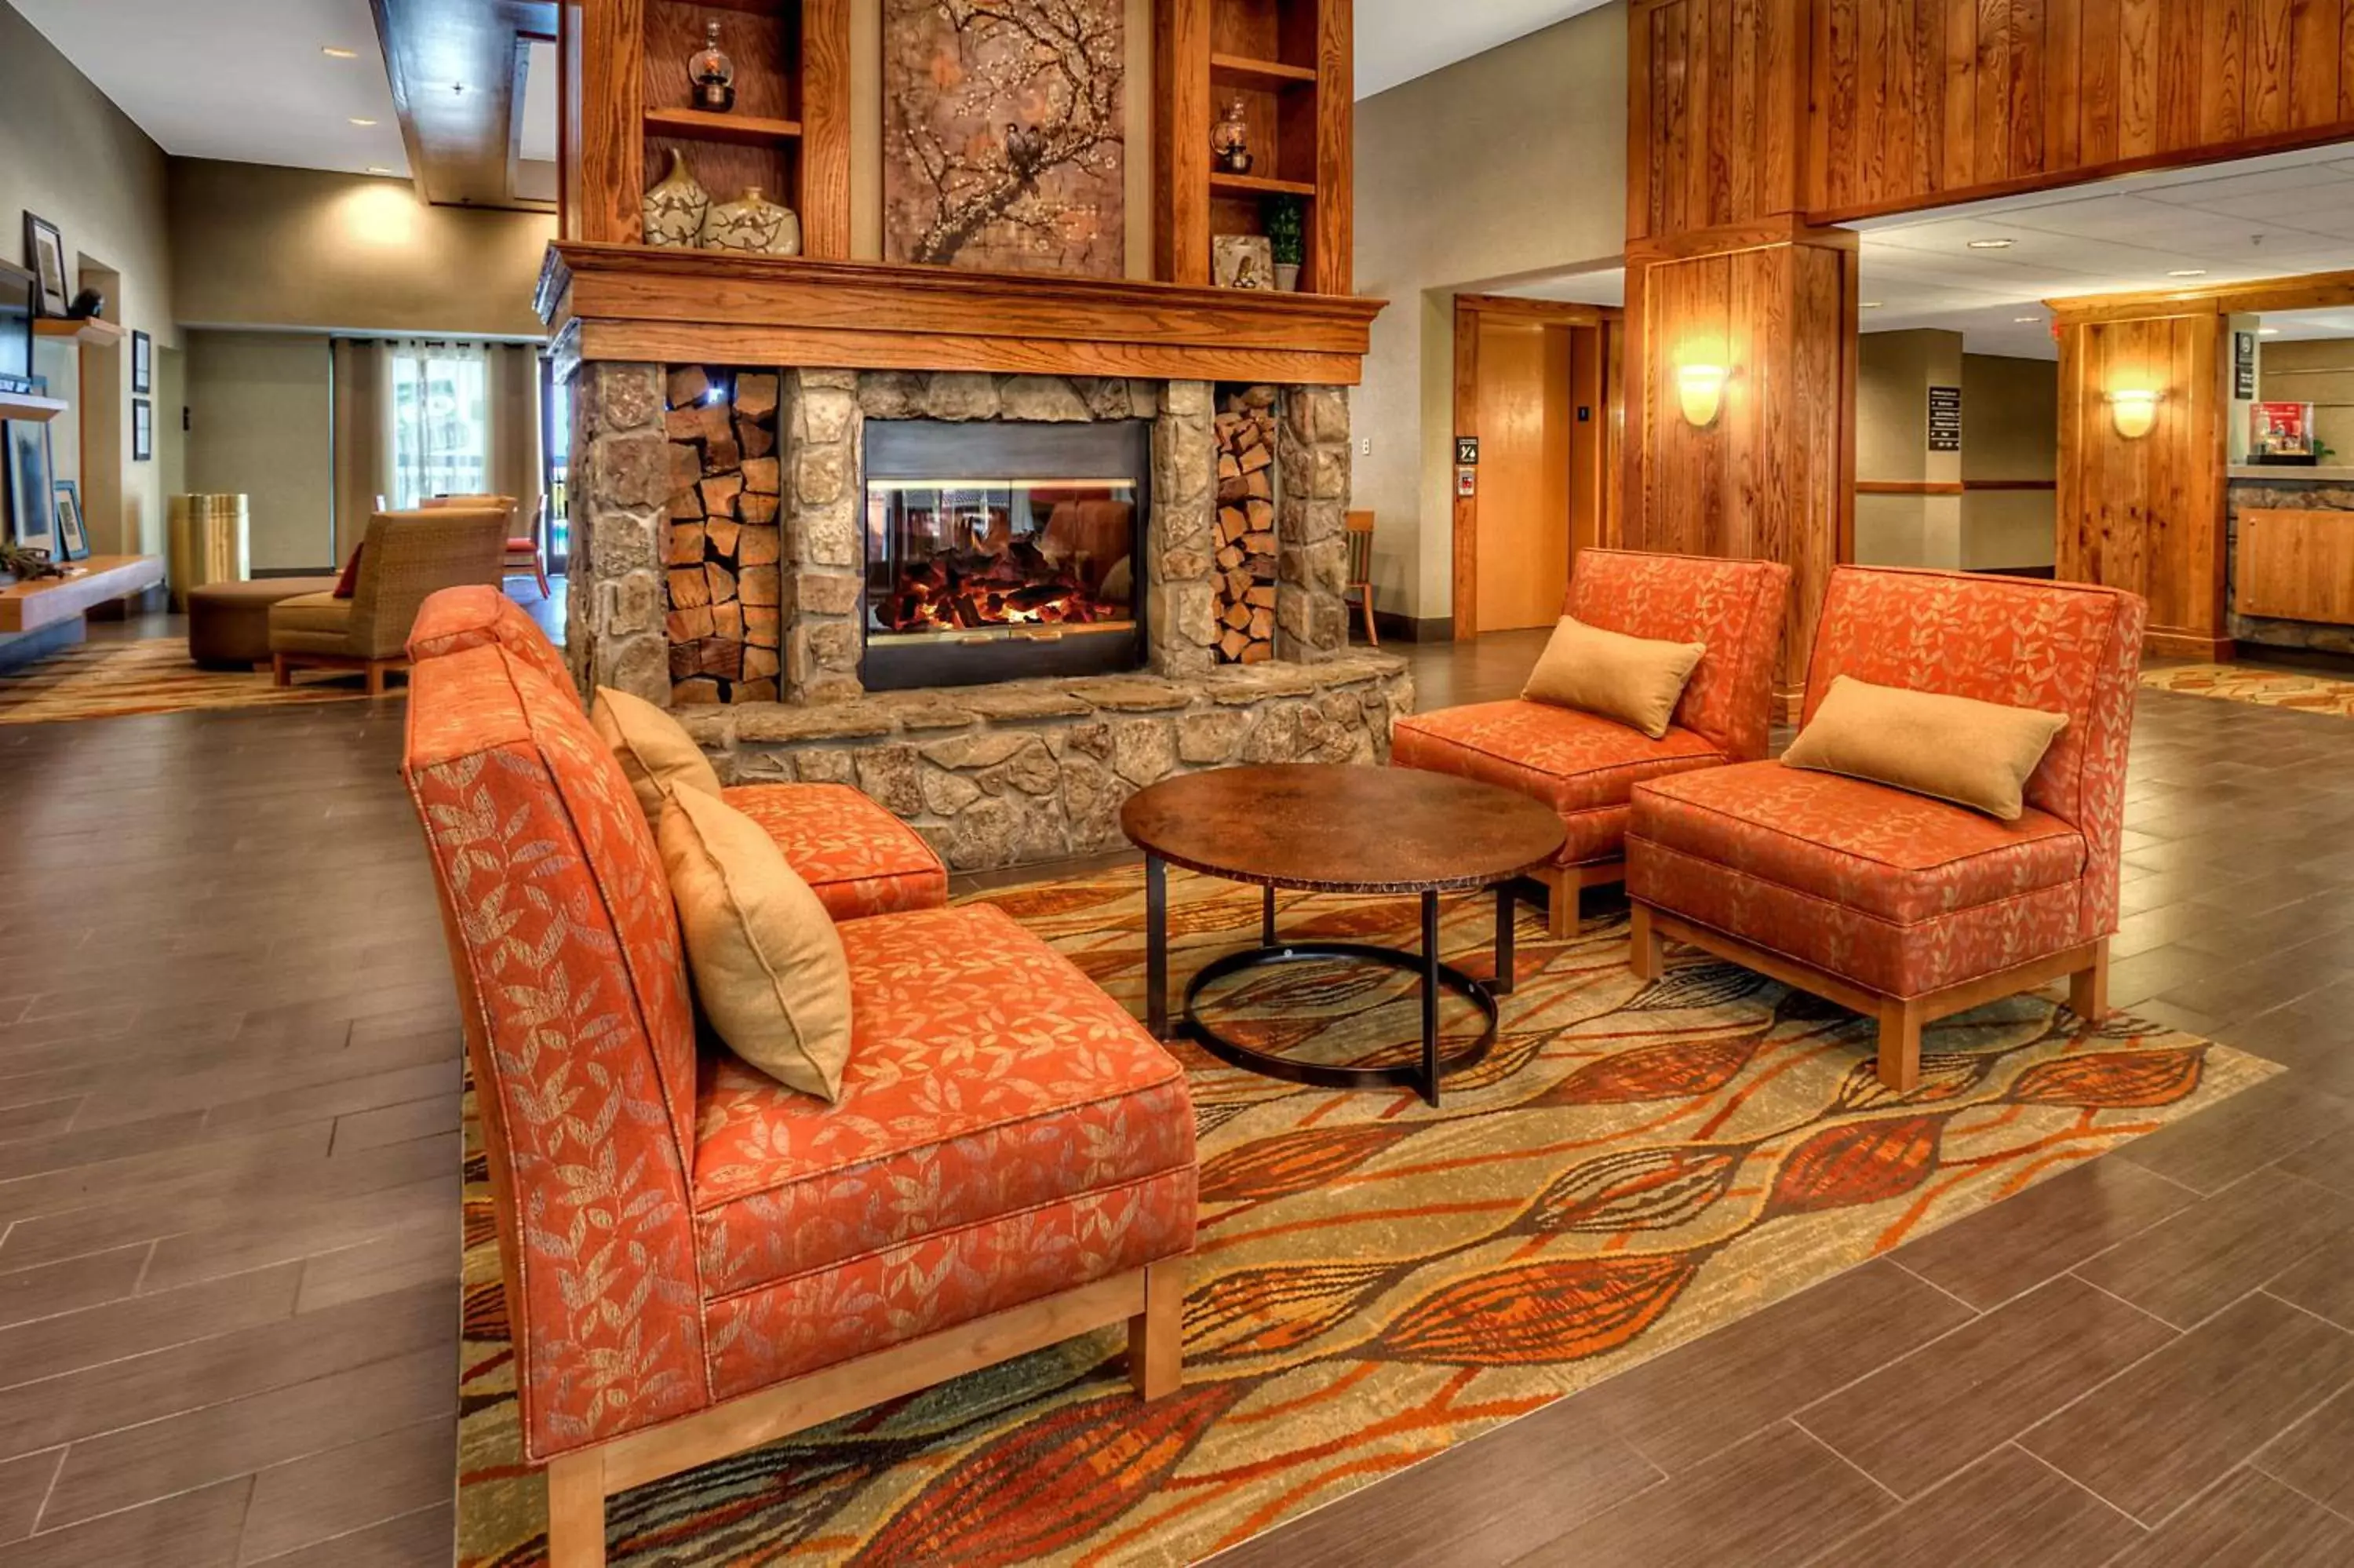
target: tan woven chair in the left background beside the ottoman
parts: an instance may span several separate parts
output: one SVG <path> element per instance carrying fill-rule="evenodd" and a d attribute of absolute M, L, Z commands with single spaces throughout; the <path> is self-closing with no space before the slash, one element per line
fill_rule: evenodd
<path fill-rule="evenodd" d="M 360 544 L 351 598 L 299 593 L 271 605 L 271 676 L 294 685 L 297 669 L 358 669 L 367 695 L 381 695 L 386 671 L 407 669 L 410 622 L 431 593 L 499 586 L 508 511 L 379 511 Z"/>

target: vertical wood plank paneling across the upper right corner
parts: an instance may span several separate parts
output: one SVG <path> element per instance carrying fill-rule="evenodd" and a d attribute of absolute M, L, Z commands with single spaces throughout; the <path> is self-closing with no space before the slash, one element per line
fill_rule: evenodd
<path fill-rule="evenodd" d="M 1629 64 L 1634 238 L 2354 137 L 2354 0 L 1636 0 Z"/>

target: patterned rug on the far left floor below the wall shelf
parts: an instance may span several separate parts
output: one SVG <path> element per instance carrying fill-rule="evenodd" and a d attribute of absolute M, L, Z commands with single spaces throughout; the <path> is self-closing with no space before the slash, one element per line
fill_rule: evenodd
<path fill-rule="evenodd" d="M 301 671 L 280 687 L 268 671 L 198 669 L 184 638 L 80 643 L 0 676 L 0 725 L 341 702 L 367 695 L 360 680 L 358 671 Z M 400 690 L 395 683 L 393 692 Z"/>

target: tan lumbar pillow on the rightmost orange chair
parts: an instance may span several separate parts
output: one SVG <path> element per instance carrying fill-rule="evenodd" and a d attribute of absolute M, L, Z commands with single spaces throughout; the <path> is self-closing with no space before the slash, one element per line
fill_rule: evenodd
<path fill-rule="evenodd" d="M 2027 779 L 2060 730 L 2067 730 L 2067 713 L 1838 676 L 1782 760 L 2017 822 L 2027 810 Z"/>

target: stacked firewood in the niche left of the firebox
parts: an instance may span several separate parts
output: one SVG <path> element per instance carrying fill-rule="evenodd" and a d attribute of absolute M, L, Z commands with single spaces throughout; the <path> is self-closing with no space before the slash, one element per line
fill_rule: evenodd
<path fill-rule="evenodd" d="M 774 702 L 779 671 L 777 377 L 671 372 L 671 702 Z"/>

